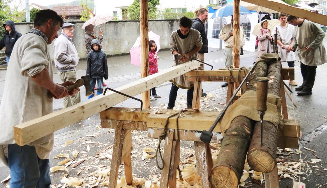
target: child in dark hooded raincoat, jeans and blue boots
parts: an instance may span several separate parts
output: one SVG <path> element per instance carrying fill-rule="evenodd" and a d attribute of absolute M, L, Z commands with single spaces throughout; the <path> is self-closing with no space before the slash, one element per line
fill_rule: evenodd
<path fill-rule="evenodd" d="M 96 94 L 99 95 L 103 92 L 103 78 L 108 79 L 108 65 L 106 53 L 101 50 L 100 42 L 97 39 L 93 39 L 91 43 L 90 53 L 87 55 L 87 66 L 86 74 L 90 75 L 90 83 L 93 94 L 89 96 L 92 98 L 94 96 L 95 82 L 97 81 L 98 87 L 96 89 Z"/>

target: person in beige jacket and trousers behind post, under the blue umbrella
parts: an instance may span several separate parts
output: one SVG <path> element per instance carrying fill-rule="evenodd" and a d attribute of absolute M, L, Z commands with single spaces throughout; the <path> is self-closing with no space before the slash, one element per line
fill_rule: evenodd
<path fill-rule="evenodd" d="M 225 68 L 233 65 L 233 16 L 231 19 L 231 23 L 226 24 L 220 31 L 219 39 L 224 41 L 225 44 Z M 240 49 L 245 44 L 245 33 L 240 25 Z M 228 85 L 227 82 L 221 84 L 221 87 L 226 87 Z"/>

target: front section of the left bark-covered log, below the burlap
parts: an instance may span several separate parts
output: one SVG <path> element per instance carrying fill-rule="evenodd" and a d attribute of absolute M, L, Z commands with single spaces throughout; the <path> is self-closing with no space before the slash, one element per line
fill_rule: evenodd
<path fill-rule="evenodd" d="M 226 130 L 216 164 L 210 174 L 213 187 L 237 187 L 241 179 L 247 148 L 250 144 L 254 122 L 245 117 L 236 117 Z"/>

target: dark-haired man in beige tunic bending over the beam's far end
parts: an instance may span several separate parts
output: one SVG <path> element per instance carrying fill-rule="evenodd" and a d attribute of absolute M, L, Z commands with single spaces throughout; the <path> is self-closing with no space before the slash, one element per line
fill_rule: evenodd
<path fill-rule="evenodd" d="M 191 29 L 192 20 L 184 16 L 180 19 L 179 23 L 180 29 L 171 33 L 169 44 L 172 54 L 178 54 L 181 57 L 178 60 L 178 65 L 189 62 L 193 58 L 195 59 L 202 46 L 200 32 Z M 175 59 L 174 62 L 174 66 L 176 66 Z M 185 74 L 170 81 L 172 84 L 167 109 L 174 108 L 178 88 L 187 89 L 187 108 L 192 108 L 194 83 L 186 81 Z"/>

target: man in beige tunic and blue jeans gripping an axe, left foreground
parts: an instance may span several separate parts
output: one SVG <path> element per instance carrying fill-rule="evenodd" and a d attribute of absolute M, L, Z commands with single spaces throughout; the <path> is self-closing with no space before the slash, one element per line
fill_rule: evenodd
<path fill-rule="evenodd" d="M 62 24 L 62 18 L 55 11 L 40 10 L 35 15 L 34 28 L 17 40 L 11 53 L 0 105 L 0 158 L 9 166 L 13 188 L 50 188 L 49 155 L 53 149 L 53 134 L 19 146 L 13 138 L 13 126 L 51 113 L 52 98 L 48 98 L 47 93 L 59 99 L 68 96 L 64 86 L 74 84 L 53 82 L 47 44 L 58 37 Z M 75 89 L 69 94 L 76 92 Z"/>

